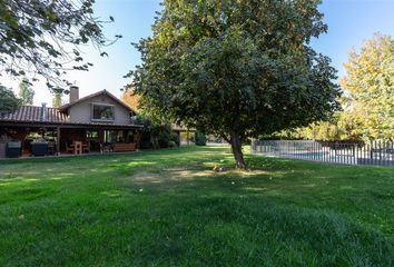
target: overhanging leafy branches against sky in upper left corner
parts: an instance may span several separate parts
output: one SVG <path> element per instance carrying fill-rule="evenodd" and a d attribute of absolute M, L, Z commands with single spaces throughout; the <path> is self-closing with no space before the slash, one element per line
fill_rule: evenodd
<path fill-rule="evenodd" d="M 106 21 L 93 17 L 93 2 L 0 0 L 0 73 L 43 77 L 52 88 L 68 83 L 61 79 L 67 70 L 88 70 L 91 63 L 81 57 L 79 44 L 111 43 L 102 34 Z"/>

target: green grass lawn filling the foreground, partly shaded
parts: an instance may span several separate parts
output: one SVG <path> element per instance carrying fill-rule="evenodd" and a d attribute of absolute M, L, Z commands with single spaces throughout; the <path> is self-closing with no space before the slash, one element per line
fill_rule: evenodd
<path fill-rule="evenodd" d="M 394 168 L 247 161 L 232 169 L 223 147 L 0 161 L 0 266 L 394 265 Z"/>

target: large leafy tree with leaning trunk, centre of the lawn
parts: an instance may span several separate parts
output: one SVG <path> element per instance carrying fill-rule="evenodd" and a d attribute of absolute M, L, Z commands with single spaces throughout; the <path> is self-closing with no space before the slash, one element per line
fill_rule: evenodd
<path fill-rule="evenodd" d="M 329 59 L 309 46 L 325 32 L 317 0 L 165 0 L 154 34 L 136 47 L 141 105 L 226 139 L 246 168 L 247 137 L 306 126 L 337 108 Z"/>

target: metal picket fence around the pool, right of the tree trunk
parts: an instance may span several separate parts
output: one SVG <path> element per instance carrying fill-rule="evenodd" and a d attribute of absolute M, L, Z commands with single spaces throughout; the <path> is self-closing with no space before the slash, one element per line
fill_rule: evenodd
<path fill-rule="evenodd" d="M 394 166 L 394 142 L 339 142 L 312 140 L 254 140 L 253 154 L 345 165 Z"/>

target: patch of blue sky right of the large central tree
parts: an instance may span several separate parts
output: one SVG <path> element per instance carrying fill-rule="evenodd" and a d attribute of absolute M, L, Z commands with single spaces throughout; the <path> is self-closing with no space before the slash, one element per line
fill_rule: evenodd
<path fill-rule="evenodd" d="M 394 0 L 323 0 L 319 10 L 328 32 L 312 44 L 333 60 L 339 77 L 352 48 L 358 49 L 374 32 L 394 36 Z"/>

